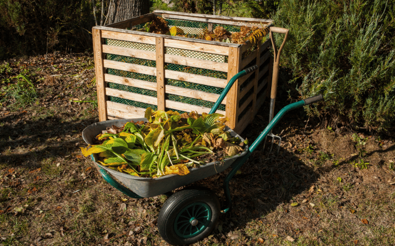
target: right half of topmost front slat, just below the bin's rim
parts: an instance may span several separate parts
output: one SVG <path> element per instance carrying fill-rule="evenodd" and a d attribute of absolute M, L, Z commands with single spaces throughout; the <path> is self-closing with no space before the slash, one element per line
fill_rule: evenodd
<path fill-rule="evenodd" d="M 197 39 L 196 39 L 197 40 Z M 224 42 L 222 42 L 224 43 Z M 165 39 L 165 46 L 166 47 L 173 47 L 179 48 L 184 50 L 193 50 L 193 51 L 200 51 L 206 52 L 210 54 L 216 55 L 228 55 L 228 47 L 226 46 L 218 46 L 212 44 L 202 44 L 194 41 L 184 41 L 184 40 L 174 40 L 174 39 Z"/>

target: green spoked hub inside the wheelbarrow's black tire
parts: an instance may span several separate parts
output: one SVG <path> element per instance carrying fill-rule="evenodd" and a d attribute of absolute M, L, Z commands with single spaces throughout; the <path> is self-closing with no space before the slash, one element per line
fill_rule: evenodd
<path fill-rule="evenodd" d="M 174 230 L 182 238 L 198 235 L 209 226 L 212 212 L 203 202 L 194 202 L 182 209 L 174 221 Z"/>

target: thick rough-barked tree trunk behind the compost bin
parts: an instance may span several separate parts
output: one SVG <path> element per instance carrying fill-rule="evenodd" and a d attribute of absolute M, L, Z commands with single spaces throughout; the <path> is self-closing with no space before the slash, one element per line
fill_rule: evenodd
<path fill-rule="evenodd" d="M 110 7 L 106 24 L 142 16 L 148 14 L 148 12 L 149 5 L 146 0 L 114 0 Z"/>

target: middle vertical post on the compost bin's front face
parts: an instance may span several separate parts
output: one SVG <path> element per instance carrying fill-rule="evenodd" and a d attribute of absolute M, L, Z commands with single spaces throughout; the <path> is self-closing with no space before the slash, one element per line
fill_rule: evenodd
<path fill-rule="evenodd" d="M 155 39 L 157 110 L 165 110 L 165 42 L 162 37 Z"/>

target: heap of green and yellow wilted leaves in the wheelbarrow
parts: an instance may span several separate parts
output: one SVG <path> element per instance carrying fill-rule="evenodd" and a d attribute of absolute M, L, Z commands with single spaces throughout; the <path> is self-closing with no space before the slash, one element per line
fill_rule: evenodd
<path fill-rule="evenodd" d="M 219 113 L 145 111 L 147 122 L 127 122 L 99 134 L 97 145 L 81 148 L 84 156 L 99 153 L 99 163 L 139 177 L 186 175 L 188 167 L 223 160 L 243 151 L 241 142 L 224 131 Z"/>

